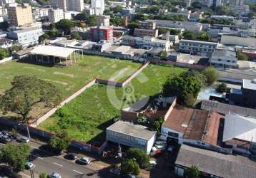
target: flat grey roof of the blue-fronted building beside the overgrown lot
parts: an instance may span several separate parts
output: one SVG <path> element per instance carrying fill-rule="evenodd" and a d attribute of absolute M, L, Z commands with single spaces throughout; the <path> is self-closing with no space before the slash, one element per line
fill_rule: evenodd
<path fill-rule="evenodd" d="M 107 127 L 107 130 L 112 130 L 114 132 L 119 132 L 125 135 L 130 135 L 132 137 L 139 137 L 144 140 L 150 140 L 157 132 L 147 130 L 147 127 L 142 125 L 134 125 L 131 122 L 124 122 L 119 120 L 113 125 Z"/>

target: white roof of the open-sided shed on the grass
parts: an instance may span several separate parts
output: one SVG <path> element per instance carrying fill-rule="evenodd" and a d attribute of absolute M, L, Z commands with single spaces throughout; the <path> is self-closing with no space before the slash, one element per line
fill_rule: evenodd
<path fill-rule="evenodd" d="M 72 54 L 77 49 L 74 48 L 64 48 L 59 46 L 36 46 L 30 53 L 38 54 L 42 56 L 57 56 L 60 58 L 67 58 L 70 54 Z"/>

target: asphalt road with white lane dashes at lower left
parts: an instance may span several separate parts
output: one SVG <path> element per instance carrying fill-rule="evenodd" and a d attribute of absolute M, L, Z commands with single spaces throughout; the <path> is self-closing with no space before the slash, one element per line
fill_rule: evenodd
<path fill-rule="evenodd" d="M 11 144 L 18 143 L 12 142 Z M 66 154 L 59 156 L 51 155 L 51 153 L 39 149 L 39 147 L 41 147 L 39 143 L 29 142 L 28 144 L 31 147 L 31 162 L 36 165 L 33 169 L 35 177 L 39 177 L 39 174 L 42 172 L 46 172 L 47 174 L 58 172 L 63 178 L 102 177 L 98 175 L 98 171 L 109 166 L 93 158 L 91 158 L 92 162 L 88 165 L 77 164 L 72 160 L 64 159 L 64 155 Z M 4 144 L 1 144 L 1 146 L 2 145 Z M 23 177 L 30 177 L 30 172 L 25 171 L 22 172 L 21 175 Z"/>

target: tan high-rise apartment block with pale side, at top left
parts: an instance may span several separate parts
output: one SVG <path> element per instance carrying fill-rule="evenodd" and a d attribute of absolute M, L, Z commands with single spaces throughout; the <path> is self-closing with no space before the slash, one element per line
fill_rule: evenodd
<path fill-rule="evenodd" d="M 7 13 L 11 26 L 24 26 L 33 23 L 31 6 L 29 4 L 9 4 L 7 6 Z"/>

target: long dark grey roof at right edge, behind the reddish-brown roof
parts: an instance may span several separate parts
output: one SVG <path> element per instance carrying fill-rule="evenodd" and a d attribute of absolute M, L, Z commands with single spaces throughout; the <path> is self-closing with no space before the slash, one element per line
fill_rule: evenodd
<path fill-rule="evenodd" d="M 212 101 L 212 100 L 202 100 L 201 109 L 214 110 L 224 115 L 233 113 L 237 115 L 256 117 L 256 110 L 254 109 L 243 108 L 237 105 L 228 105 L 225 103 L 218 103 L 217 101 Z"/>

